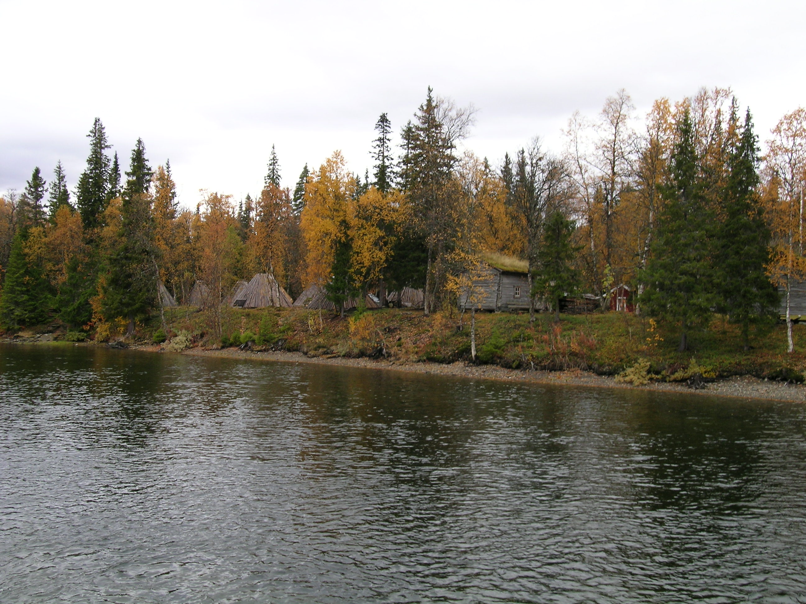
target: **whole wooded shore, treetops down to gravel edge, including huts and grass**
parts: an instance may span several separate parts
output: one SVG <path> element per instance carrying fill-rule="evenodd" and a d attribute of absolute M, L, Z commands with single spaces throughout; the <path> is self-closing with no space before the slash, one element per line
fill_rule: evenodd
<path fill-rule="evenodd" d="M 397 144 L 380 115 L 372 173 L 334 151 L 292 190 L 272 145 L 256 197 L 202 192 L 195 211 L 167 159 L 152 169 L 138 139 L 124 170 L 96 118 L 73 192 L 57 163 L 0 197 L 0 336 L 692 391 L 804 382 L 806 109 L 762 155 L 729 89 L 642 121 L 622 89 L 571 116 L 565 151 L 534 139 L 493 163 L 465 146 L 474 114 L 429 88 Z"/>

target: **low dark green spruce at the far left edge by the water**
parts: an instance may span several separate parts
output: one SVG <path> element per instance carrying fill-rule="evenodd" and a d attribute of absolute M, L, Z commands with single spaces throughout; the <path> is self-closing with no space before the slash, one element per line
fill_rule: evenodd
<path fill-rule="evenodd" d="M 48 321 L 52 304 L 50 283 L 43 267 L 27 258 L 27 230 L 20 230 L 11 243 L 6 279 L 0 294 L 0 321 L 5 329 L 39 325 Z"/>

